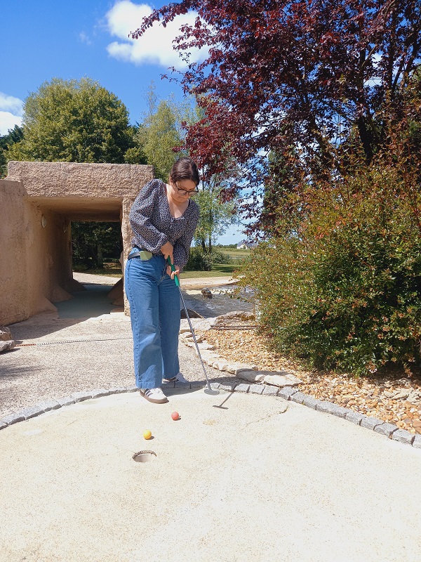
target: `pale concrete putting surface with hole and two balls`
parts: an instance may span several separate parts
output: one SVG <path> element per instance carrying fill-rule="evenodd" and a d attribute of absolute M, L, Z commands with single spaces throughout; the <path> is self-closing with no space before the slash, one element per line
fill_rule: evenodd
<path fill-rule="evenodd" d="M 421 450 L 273 396 L 166 392 L 0 431 L 1 561 L 420 559 Z"/>

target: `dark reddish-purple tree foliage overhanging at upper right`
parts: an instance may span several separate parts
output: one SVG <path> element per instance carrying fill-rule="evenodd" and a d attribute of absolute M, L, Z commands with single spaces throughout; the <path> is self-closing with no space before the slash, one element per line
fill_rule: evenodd
<path fill-rule="evenodd" d="M 209 54 L 180 78 L 205 110 L 187 145 L 209 175 L 222 173 L 228 154 L 247 164 L 241 186 L 255 196 L 250 216 L 263 186 L 278 181 L 270 152 L 287 155 L 293 175 L 316 181 L 342 172 L 350 139 L 367 163 L 387 145 L 384 112 L 399 118 L 419 64 L 417 0 L 182 0 L 155 10 L 133 37 L 189 10 L 198 16 L 175 48 L 206 46 Z M 238 188 L 231 178 L 226 192 Z"/>

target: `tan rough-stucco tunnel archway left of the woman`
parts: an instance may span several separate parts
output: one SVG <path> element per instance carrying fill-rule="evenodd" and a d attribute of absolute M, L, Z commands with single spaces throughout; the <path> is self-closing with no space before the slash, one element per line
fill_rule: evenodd
<path fill-rule="evenodd" d="M 123 256 L 128 213 L 152 166 L 9 162 L 0 180 L 0 324 L 20 322 L 71 298 L 71 221 L 120 221 Z M 128 303 L 125 299 L 125 311 Z"/>

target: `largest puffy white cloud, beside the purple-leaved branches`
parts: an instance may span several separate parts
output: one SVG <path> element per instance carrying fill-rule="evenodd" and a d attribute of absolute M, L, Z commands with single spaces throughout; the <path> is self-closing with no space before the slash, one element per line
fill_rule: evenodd
<path fill-rule="evenodd" d="M 138 29 L 142 19 L 150 13 L 152 8 L 148 4 L 133 4 L 130 0 L 120 0 L 114 4 L 105 18 L 109 33 L 121 41 L 114 41 L 107 46 L 109 55 L 135 65 L 152 63 L 166 68 L 174 66 L 182 69 L 186 64 L 178 52 L 173 50 L 172 41 L 180 35 L 181 25 L 194 23 L 196 13 L 180 15 L 166 27 L 155 24 L 140 39 L 129 38 L 128 34 Z M 199 51 L 192 48 L 189 52 L 191 62 L 203 60 L 207 54 L 206 49 Z"/>

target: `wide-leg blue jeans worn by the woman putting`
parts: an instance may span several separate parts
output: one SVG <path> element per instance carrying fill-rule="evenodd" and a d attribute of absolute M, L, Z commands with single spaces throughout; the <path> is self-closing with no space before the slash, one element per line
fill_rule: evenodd
<path fill-rule="evenodd" d="M 136 386 L 156 388 L 175 377 L 180 332 L 180 293 L 166 273 L 163 256 L 127 261 L 125 288 L 130 303 Z"/>

